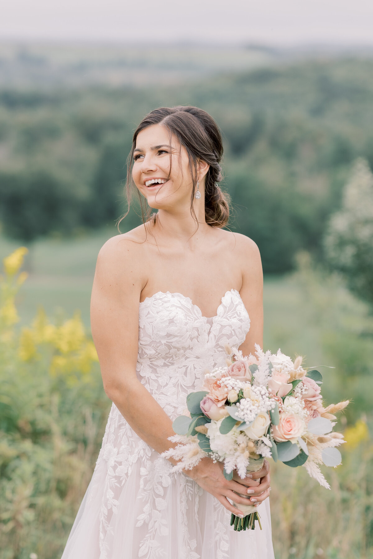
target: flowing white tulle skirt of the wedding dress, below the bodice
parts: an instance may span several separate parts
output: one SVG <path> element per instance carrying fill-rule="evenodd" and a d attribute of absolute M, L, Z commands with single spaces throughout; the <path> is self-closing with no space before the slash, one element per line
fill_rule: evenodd
<path fill-rule="evenodd" d="M 62 559 L 274 559 L 269 499 L 262 530 L 234 532 L 229 511 L 114 408 Z"/>

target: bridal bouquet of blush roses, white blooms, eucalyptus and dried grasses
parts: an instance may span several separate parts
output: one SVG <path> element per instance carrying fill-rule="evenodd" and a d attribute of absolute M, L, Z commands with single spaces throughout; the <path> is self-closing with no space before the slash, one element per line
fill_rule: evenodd
<path fill-rule="evenodd" d="M 303 368 L 301 357 L 292 362 L 280 349 L 272 355 L 257 344 L 255 348 L 255 356 L 243 357 L 225 347 L 226 366 L 206 371 L 204 390 L 188 394 L 189 414 L 174 420 L 176 435 L 169 439 L 178 444 L 162 456 L 179 461 L 173 471 L 191 470 L 209 456 L 224 462 L 227 480 L 232 480 L 233 470 L 244 479 L 272 457 L 293 468 L 305 466 L 330 489 L 318 465 L 341 463 L 336 447 L 344 442 L 343 435 L 332 432 L 332 420 L 348 400 L 324 408 L 319 371 Z M 239 508 L 244 518 L 232 514 L 235 530 L 254 529 L 256 520 L 262 528 L 254 505 Z"/>

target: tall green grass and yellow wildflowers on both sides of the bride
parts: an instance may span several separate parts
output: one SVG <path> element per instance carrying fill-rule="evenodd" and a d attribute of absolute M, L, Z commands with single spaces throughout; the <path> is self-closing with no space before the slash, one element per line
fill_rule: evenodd
<path fill-rule="evenodd" d="M 0 556 L 59 559 L 110 402 L 78 314 L 51 323 L 39 311 L 30 326 L 17 327 L 22 258 L 18 250 L 5 260 L 0 281 Z M 265 314 L 266 347 L 335 366 L 322 369 L 324 398 L 353 400 L 339 426 L 347 440 L 343 465 L 324 472 L 331 491 L 304 468 L 271 463 L 276 559 L 373 557 L 369 309 L 303 254 L 295 274 L 266 282 Z"/>

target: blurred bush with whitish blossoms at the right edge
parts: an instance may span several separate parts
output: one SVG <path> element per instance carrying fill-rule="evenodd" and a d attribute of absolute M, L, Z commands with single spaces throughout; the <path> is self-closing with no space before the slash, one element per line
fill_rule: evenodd
<path fill-rule="evenodd" d="M 365 159 L 353 167 L 324 247 L 330 266 L 342 272 L 352 291 L 373 304 L 373 174 Z"/>

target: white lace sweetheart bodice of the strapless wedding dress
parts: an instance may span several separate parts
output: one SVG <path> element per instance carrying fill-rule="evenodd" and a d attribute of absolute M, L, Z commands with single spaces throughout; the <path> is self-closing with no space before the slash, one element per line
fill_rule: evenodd
<path fill-rule="evenodd" d="M 224 366 L 224 345 L 244 342 L 250 319 L 237 290 L 226 291 L 207 318 L 189 297 L 158 291 L 140 303 L 138 377 L 166 413 L 183 413 L 206 369 Z"/>

